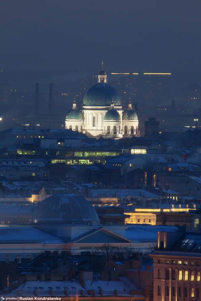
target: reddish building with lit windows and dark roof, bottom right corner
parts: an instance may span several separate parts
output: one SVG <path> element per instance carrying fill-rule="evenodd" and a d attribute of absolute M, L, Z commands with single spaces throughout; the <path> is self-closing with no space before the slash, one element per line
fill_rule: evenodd
<path fill-rule="evenodd" d="M 157 250 L 152 254 L 154 301 L 199 300 L 200 244 L 199 233 L 157 233 Z"/>

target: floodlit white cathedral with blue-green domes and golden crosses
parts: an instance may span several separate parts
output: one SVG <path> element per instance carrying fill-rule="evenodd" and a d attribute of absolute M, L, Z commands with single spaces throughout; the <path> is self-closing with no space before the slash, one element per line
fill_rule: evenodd
<path fill-rule="evenodd" d="M 126 110 L 122 109 L 118 92 L 107 83 L 107 74 L 102 69 L 98 83 L 93 85 L 83 98 L 82 110 L 76 101 L 66 115 L 66 129 L 82 132 L 88 137 L 125 138 L 139 136 L 138 117 L 129 101 Z"/>

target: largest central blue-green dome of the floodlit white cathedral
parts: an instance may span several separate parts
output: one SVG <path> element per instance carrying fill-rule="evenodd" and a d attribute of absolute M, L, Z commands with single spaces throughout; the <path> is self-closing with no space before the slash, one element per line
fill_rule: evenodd
<path fill-rule="evenodd" d="M 83 98 L 84 106 L 121 106 L 121 99 L 117 91 L 108 84 L 96 84 L 91 87 Z"/>

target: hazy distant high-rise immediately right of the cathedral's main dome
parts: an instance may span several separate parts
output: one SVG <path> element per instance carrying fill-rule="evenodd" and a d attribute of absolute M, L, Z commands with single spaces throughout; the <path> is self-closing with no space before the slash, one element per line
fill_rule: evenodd
<path fill-rule="evenodd" d="M 118 90 L 122 105 L 137 97 L 138 73 L 111 73 L 111 85 Z"/>

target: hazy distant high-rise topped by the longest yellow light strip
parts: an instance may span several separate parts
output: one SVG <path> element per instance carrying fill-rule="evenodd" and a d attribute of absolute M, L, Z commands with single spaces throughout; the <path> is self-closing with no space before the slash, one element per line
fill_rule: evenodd
<path fill-rule="evenodd" d="M 170 95 L 171 73 L 144 73 L 144 96 L 148 99 L 167 99 Z"/>

